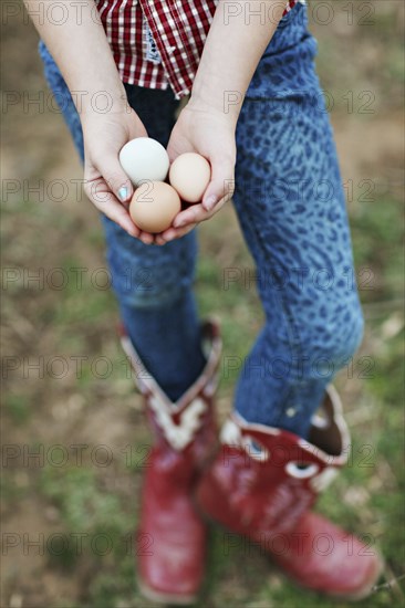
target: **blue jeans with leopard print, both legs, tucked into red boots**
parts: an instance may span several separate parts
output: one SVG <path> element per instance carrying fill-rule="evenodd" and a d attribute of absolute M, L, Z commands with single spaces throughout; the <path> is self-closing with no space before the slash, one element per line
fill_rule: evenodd
<path fill-rule="evenodd" d="M 43 44 L 40 51 L 83 158 L 80 120 L 66 85 Z M 280 22 L 248 88 L 237 127 L 233 197 L 266 313 L 239 375 L 235 408 L 248 421 L 301 437 L 326 384 L 363 334 L 315 54 L 307 9 L 299 4 Z M 126 85 L 126 92 L 149 136 L 166 145 L 178 105 L 172 91 Z M 157 247 L 144 245 L 106 218 L 103 224 L 123 321 L 146 367 L 176 399 L 205 361 L 193 294 L 196 231 Z"/>

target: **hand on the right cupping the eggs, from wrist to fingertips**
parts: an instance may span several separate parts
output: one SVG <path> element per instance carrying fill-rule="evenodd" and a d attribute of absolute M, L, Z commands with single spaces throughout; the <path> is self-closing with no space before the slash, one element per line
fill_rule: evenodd
<path fill-rule="evenodd" d="M 196 224 L 217 213 L 231 198 L 235 189 L 235 129 L 232 116 L 194 102 L 193 97 L 181 111 L 167 146 L 170 163 L 184 153 L 200 154 L 211 165 L 211 180 L 201 202 L 180 211 L 170 228 L 156 234 L 156 244 L 163 245 L 184 237 Z"/>

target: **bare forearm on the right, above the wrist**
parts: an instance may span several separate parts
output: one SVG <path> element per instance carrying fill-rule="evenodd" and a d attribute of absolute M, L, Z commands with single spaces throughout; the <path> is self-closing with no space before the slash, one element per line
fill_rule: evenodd
<path fill-rule="evenodd" d="M 193 85 L 191 103 L 229 113 L 237 119 L 284 8 L 283 0 L 219 1 Z"/>

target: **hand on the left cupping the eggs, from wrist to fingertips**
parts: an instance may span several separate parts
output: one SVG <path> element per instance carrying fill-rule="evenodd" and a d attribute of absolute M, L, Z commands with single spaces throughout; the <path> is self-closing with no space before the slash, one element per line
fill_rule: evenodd
<path fill-rule="evenodd" d="M 117 113 L 82 115 L 84 136 L 84 191 L 93 205 L 128 234 L 144 243 L 154 237 L 137 228 L 128 213 L 134 188 L 121 167 L 118 154 L 131 139 L 147 137 L 146 129 L 128 106 Z"/>

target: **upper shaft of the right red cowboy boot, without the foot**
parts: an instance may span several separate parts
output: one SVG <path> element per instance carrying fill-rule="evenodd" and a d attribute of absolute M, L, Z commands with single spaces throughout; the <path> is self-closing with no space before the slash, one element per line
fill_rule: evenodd
<path fill-rule="evenodd" d="M 231 521 L 229 527 L 253 536 L 291 531 L 347 460 L 349 431 L 332 387 L 321 409 L 322 417 L 312 421 L 311 441 L 232 415 L 199 484 L 199 501 L 211 505 L 207 511 L 215 509 L 218 518 Z"/>

